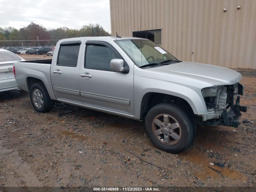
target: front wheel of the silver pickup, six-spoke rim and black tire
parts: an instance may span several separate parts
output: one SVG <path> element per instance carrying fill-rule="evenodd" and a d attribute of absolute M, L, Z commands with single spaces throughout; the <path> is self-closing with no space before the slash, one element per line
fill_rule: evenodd
<path fill-rule="evenodd" d="M 145 119 L 150 140 L 161 150 L 179 153 L 192 143 L 195 127 L 191 118 L 175 104 L 152 107 Z"/>

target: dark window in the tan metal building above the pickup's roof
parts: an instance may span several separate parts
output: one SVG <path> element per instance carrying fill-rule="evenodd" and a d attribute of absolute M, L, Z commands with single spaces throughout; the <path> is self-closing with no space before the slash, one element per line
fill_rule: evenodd
<path fill-rule="evenodd" d="M 149 39 L 156 44 L 161 44 L 161 29 L 134 31 L 132 32 L 132 36 Z"/>

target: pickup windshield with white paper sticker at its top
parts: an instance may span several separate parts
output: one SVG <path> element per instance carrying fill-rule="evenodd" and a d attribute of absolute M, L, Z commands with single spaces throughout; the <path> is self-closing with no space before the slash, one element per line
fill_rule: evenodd
<path fill-rule="evenodd" d="M 150 40 L 116 40 L 116 43 L 122 48 L 122 50 L 124 50 L 124 52 L 126 52 L 126 54 L 128 54 L 138 67 L 180 62 L 170 53 L 166 52 Z"/>

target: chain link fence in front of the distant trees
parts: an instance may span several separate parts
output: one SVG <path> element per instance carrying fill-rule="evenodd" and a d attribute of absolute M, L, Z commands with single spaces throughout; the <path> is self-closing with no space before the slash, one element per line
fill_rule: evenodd
<path fill-rule="evenodd" d="M 0 48 L 55 47 L 58 40 L 0 40 Z"/>

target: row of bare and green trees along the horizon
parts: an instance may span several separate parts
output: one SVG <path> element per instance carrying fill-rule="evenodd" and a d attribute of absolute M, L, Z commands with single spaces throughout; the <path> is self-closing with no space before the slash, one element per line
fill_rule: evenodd
<path fill-rule="evenodd" d="M 0 28 L 0 40 L 24 40 L 24 42 L 1 42 L 1 46 L 38 46 L 38 45 L 53 45 L 56 41 L 64 38 L 84 37 L 84 36 L 110 36 L 108 32 L 99 24 L 84 25 L 81 29 L 70 29 L 60 27 L 57 29 L 47 30 L 44 26 L 35 23 L 30 23 L 24 28 L 17 30 L 13 27 Z M 39 40 L 49 40 L 37 42 Z M 28 41 L 36 40 L 36 41 Z"/>

